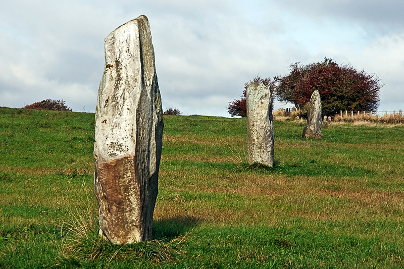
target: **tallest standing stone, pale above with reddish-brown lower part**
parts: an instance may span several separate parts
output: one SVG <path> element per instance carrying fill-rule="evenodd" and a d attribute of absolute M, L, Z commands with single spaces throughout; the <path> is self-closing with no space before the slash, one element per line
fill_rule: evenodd
<path fill-rule="evenodd" d="M 120 26 L 104 44 L 94 143 L 99 234 L 114 244 L 130 244 L 152 236 L 163 138 L 147 18 Z"/>

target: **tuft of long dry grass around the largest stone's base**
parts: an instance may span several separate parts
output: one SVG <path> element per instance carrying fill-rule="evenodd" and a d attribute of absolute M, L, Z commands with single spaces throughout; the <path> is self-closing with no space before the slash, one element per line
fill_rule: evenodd
<path fill-rule="evenodd" d="M 170 241 L 165 239 L 144 241 L 135 244 L 114 245 L 98 234 L 97 216 L 90 211 L 70 213 L 60 225 L 62 245 L 60 265 L 74 265 L 78 260 L 111 263 L 123 261 L 175 261 L 184 252 L 178 247 L 186 235 Z M 76 265 L 77 266 L 77 265 Z"/>

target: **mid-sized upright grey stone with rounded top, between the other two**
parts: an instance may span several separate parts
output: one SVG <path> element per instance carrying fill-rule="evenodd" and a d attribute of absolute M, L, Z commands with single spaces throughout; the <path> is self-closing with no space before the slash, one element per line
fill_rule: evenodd
<path fill-rule="evenodd" d="M 249 164 L 274 166 L 272 98 L 263 83 L 247 87 L 247 155 Z"/>

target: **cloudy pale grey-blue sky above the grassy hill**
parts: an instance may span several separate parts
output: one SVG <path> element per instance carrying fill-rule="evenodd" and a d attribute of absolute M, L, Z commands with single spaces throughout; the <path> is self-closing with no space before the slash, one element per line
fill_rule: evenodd
<path fill-rule="evenodd" d="M 378 76 L 379 110 L 398 111 L 402 11 L 402 0 L 1 1 L 0 106 L 63 99 L 73 111 L 94 112 L 104 38 L 145 15 L 163 110 L 230 117 L 245 82 L 331 58 Z"/>

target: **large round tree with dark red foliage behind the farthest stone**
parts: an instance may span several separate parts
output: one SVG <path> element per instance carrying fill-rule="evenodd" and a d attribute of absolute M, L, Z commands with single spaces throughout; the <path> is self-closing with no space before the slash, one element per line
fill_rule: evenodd
<path fill-rule="evenodd" d="M 303 107 L 318 90 L 324 114 L 341 110 L 373 111 L 379 106 L 379 77 L 358 71 L 350 65 L 338 65 L 333 59 L 309 65 L 290 65 L 290 74 L 274 78 L 279 101 Z"/>

